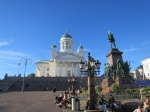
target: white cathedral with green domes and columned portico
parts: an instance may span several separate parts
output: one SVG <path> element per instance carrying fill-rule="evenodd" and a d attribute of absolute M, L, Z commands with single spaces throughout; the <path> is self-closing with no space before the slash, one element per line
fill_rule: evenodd
<path fill-rule="evenodd" d="M 50 50 L 50 60 L 36 62 L 36 77 L 81 76 L 79 63 L 84 61 L 84 48 L 80 45 L 73 51 L 73 39 L 66 32 L 60 39 L 60 51 L 54 44 Z"/>

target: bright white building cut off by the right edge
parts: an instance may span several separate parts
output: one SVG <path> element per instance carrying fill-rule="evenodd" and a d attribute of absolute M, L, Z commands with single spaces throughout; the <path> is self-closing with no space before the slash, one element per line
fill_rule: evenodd
<path fill-rule="evenodd" d="M 143 65 L 143 77 L 150 79 L 150 58 L 145 58 L 141 62 Z"/>

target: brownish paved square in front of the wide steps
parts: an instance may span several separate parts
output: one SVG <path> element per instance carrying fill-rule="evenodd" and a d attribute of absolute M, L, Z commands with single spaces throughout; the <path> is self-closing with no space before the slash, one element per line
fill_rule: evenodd
<path fill-rule="evenodd" d="M 54 98 L 52 91 L 0 92 L 0 112 L 72 112 L 57 107 Z"/>

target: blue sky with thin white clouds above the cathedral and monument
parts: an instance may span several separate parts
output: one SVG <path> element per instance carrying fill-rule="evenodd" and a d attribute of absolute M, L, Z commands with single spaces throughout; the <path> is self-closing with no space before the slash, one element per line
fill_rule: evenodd
<path fill-rule="evenodd" d="M 54 42 L 59 50 L 66 29 L 74 51 L 81 43 L 86 57 L 90 52 L 102 63 L 101 73 L 111 31 L 133 70 L 150 57 L 149 5 L 149 0 L 0 0 L 0 78 L 18 75 L 26 55 L 33 61 L 26 75 L 35 73 L 36 60 L 48 60 Z M 19 72 L 24 72 L 24 61 Z"/>

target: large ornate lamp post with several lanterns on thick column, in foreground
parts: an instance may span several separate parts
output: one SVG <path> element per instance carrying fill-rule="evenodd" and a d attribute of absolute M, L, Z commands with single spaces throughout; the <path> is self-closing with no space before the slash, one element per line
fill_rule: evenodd
<path fill-rule="evenodd" d="M 85 64 L 85 65 L 84 65 Z M 94 75 L 98 75 L 100 73 L 101 63 L 97 60 L 95 61 L 88 53 L 88 61 L 86 63 L 79 63 L 79 68 L 83 74 L 88 75 L 88 102 L 87 107 L 88 110 L 95 110 L 96 104 L 96 94 L 95 94 L 95 84 L 94 84 Z"/>

